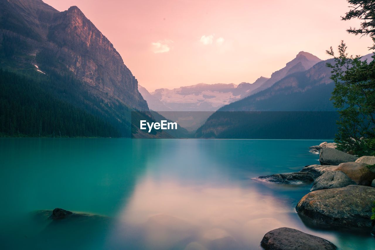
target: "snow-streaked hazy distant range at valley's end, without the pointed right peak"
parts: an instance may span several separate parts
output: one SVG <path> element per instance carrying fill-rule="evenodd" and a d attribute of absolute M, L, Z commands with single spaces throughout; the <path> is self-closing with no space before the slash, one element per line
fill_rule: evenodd
<path fill-rule="evenodd" d="M 260 87 L 268 78 L 260 77 L 254 83 L 204 84 L 174 88 L 159 88 L 149 93 L 138 87 L 150 109 L 155 111 L 215 111 L 222 105 L 239 100 L 251 90 Z"/>

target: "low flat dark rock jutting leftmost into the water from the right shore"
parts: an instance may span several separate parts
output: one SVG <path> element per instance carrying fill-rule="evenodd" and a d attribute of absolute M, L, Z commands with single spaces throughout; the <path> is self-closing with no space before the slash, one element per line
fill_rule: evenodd
<path fill-rule="evenodd" d="M 257 178 L 262 181 L 269 181 L 282 184 L 301 184 L 314 181 L 313 175 L 309 172 L 295 172 L 289 174 L 264 175 Z"/>

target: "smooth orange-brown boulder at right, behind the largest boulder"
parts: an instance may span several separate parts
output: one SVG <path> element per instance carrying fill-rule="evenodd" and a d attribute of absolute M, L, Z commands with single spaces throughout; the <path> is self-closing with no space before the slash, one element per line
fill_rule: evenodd
<path fill-rule="evenodd" d="M 336 170 L 344 172 L 358 185 L 370 186 L 375 179 L 375 173 L 371 172 L 366 163 L 347 162 L 342 163 Z"/>

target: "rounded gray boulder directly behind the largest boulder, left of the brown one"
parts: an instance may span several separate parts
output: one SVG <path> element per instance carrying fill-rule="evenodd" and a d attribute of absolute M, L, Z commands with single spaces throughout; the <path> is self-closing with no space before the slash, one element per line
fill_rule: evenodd
<path fill-rule="evenodd" d="M 335 189 L 338 187 L 346 187 L 356 184 L 357 183 L 355 181 L 353 181 L 348 177 L 348 175 L 344 174 L 343 172 L 330 171 L 324 173 L 314 181 L 311 191 L 320 189 Z"/>

